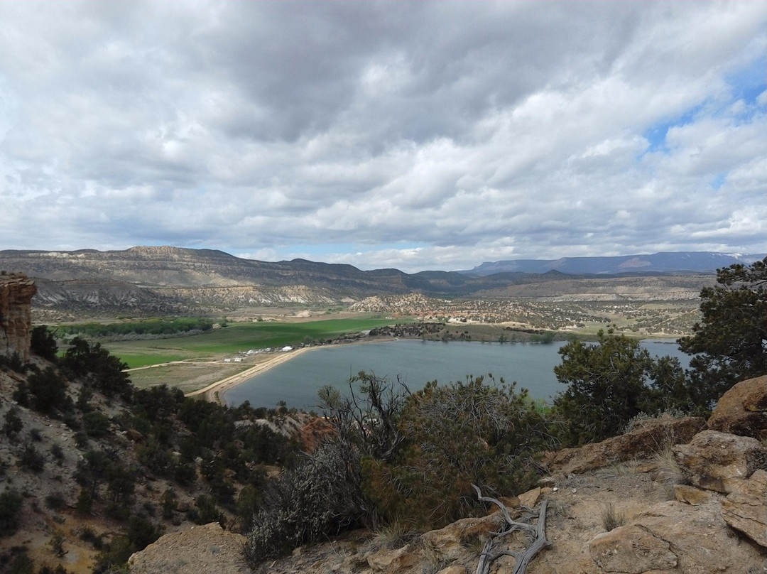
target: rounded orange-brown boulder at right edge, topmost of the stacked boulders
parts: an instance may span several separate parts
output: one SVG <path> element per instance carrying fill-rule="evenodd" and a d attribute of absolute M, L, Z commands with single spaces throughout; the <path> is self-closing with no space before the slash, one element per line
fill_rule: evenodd
<path fill-rule="evenodd" d="M 767 434 L 767 375 L 739 382 L 723 394 L 707 426 L 743 437 L 764 437 Z"/>

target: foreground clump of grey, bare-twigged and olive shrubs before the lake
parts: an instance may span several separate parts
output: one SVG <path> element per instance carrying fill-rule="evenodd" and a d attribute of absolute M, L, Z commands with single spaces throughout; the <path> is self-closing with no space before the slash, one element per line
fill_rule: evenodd
<path fill-rule="evenodd" d="M 477 510 L 472 481 L 526 489 L 535 452 L 551 445 L 526 392 L 492 378 L 410 394 L 360 373 L 346 398 L 325 388 L 321 401 L 334 433 L 265 490 L 245 549 L 252 566 L 360 523 L 442 526 Z"/>

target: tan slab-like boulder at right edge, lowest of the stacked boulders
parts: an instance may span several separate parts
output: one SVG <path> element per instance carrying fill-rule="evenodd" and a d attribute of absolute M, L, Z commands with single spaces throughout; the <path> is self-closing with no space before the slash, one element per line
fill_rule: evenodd
<path fill-rule="evenodd" d="M 767 548 L 767 472 L 757 470 L 722 501 L 722 517 L 759 546 Z"/>

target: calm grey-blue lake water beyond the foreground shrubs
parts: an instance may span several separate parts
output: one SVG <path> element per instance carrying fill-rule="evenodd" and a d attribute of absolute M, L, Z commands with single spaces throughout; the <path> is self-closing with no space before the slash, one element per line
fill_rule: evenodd
<path fill-rule="evenodd" d="M 559 365 L 559 348 L 564 342 L 476 343 L 451 341 L 386 341 L 367 345 L 318 347 L 278 365 L 227 391 L 226 404 L 250 401 L 254 407 L 275 407 L 285 401 L 288 407 L 311 410 L 317 404 L 317 391 L 325 384 L 346 391 L 350 374 L 373 371 L 379 377 L 407 383 L 411 391 L 436 379 L 440 383 L 463 381 L 466 375 L 492 373 L 495 379 L 517 381 L 533 398 L 548 399 L 564 387 L 554 376 Z M 643 341 L 652 355 L 671 355 L 688 364 L 676 343 Z"/>

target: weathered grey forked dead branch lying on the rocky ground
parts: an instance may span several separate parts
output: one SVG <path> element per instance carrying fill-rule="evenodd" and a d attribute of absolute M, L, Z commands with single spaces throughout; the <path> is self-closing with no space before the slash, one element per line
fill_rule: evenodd
<path fill-rule="evenodd" d="M 490 496 L 482 496 L 482 490 L 479 490 L 479 487 L 474 484 L 472 484 L 472 487 L 476 490 L 477 498 L 480 502 L 492 503 L 495 504 L 495 506 L 498 506 L 501 515 L 503 516 L 503 520 L 505 521 L 505 529 L 502 529 L 499 532 L 491 532 L 489 534 L 489 538 L 487 539 L 484 548 L 482 548 L 482 553 L 479 555 L 476 574 L 488 574 L 492 562 L 495 562 L 495 560 L 499 559 L 501 556 L 514 557 L 516 564 L 513 574 L 525 574 L 528 564 L 535 558 L 535 555 L 549 544 L 546 539 L 546 506 L 548 505 L 548 500 L 544 500 L 541 503 L 541 507 L 538 510 L 538 523 L 535 526 L 532 526 L 532 524 L 526 522 L 513 520 L 512 516 L 509 514 L 509 510 L 500 500 L 496 500 Z M 524 552 L 518 553 L 513 550 L 492 551 L 497 539 L 511 534 L 516 530 L 522 530 L 529 536 L 532 536 L 533 542 Z"/>

